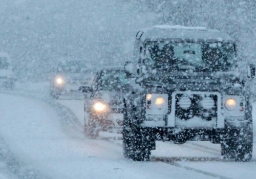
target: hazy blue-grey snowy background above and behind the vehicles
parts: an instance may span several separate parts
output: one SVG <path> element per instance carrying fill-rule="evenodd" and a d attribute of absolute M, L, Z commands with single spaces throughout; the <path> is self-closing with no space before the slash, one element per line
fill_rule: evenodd
<path fill-rule="evenodd" d="M 0 51 L 11 55 L 19 78 L 42 80 L 58 59 L 96 69 L 123 64 L 139 29 L 178 24 L 227 32 L 239 60 L 255 61 L 255 9 L 253 0 L 1 0 Z"/>

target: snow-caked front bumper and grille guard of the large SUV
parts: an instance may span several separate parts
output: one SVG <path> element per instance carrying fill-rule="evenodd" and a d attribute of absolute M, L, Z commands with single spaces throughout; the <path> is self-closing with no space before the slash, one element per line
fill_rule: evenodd
<path fill-rule="evenodd" d="M 194 113 L 194 109 L 191 110 L 179 110 L 179 106 L 177 106 L 177 98 L 176 95 L 189 95 L 192 96 L 194 100 L 193 95 L 197 96 L 215 96 L 215 105 L 213 108 L 208 109 L 210 110 L 210 113 L 215 114 L 212 115 L 210 118 L 207 117 L 205 113 L 209 112 L 206 110 L 197 110 L 197 113 Z M 230 95 L 229 95 L 230 96 Z M 180 129 L 223 129 L 228 126 L 233 127 L 239 127 L 243 124 L 243 122 L 246 122 L 246 119 L 248 120 L 250 117 L 248 114 L 250 113 L 250 106 L 246 104 L 244 106 L 244 102 L 242 103 L 243 107 L 245 107 L 246 110 L 239 111 L 233 113 L 230 111 L 227 111 L 225 107 L 222 106 L 223 100 L 222 98 L 227 98 L 227 95 L 221 96 L 218 92 L 191 92 L 191 91 L 177 91 L 173 92 L 172 96 L 169 97 L 168 102 L 168 113 L 165 115 L 160 115 L 157 113 L 154 114 L 148 114 L 145 113 L 145 116 L 142 117 L 143 120 L 140 121 L 141 127 L 166 127 L 166 128 L 180 128 Z M 200 103 L 200 100 L 196 99 L 194 103 L 191 104 L 191 106 L 198 107 Z M 177 109 L 177 110 L 176 110 Z M 198 109 L 198 108 L 196 108 Z M 191 113 L 192 111 L 192 113 Z M 246 111 L 246 113 L 245 113 Z M 181 113 L 182 112 L 182 113 Z M 177 114 L 176 114 L 177 113 Z M 190 118 L 180 118 L 181 114 L 189 115 Z M 139 115 L 138 115 L 139 116 Z"/>

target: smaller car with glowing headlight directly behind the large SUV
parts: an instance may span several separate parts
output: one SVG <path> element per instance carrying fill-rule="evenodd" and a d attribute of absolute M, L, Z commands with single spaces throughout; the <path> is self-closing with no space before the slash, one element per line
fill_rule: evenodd
<path fill-rule="evenodd" d="M 80 87 L 86 96 L 84 133 L 88 138 L 97 138 L 99 131 L 122 129 L 123 95 L 128 83 L 125 71 L 121 67 L 112 67 L 98 71 L 92 86 Z"/>

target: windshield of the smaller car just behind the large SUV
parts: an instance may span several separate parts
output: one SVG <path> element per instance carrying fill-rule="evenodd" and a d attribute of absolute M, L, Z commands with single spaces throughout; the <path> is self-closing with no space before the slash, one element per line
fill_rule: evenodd
<path fill-rule="evenodd" d="M 96 83 L 100 90 L 113 91 L 120 89 L 128 81 L 129 79 L 122 70 L 103 70 Z"/>

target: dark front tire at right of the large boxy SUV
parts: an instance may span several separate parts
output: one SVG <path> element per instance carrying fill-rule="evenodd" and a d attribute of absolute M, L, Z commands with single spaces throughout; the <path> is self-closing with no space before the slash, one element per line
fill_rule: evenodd
<path fill-rule="evenodd" d="M 249 162 L 252 158 L 252 128 L 242 128 L 227 132 L 221 142 L 221 155 L 224 159 L 236 162 Z"/>

